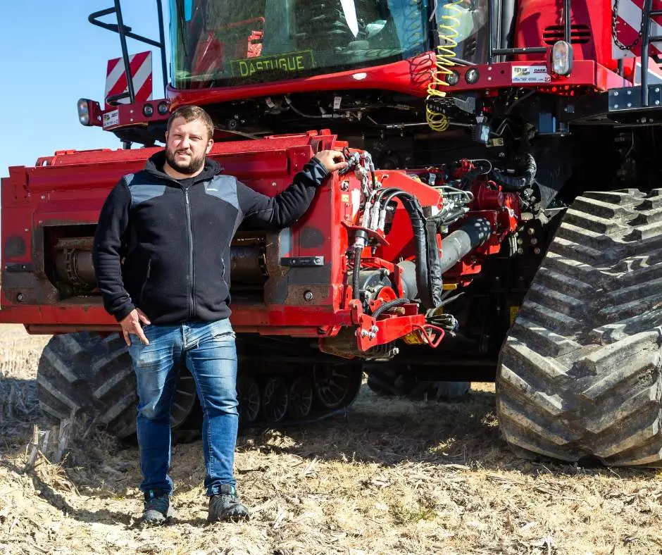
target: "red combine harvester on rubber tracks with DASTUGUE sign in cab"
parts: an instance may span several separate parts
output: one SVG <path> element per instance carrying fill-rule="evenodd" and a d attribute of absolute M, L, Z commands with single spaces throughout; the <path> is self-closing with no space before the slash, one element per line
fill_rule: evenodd
<path fill-rule="evenodd" d="M 216 123 L 211 156 L 260 192 L 319 149 L 351 162 L 296 225 L 247 224 L 232 243 L 244 425 L 342 409 L 363 370 L 410 395 L 496 379 L 516 451 L 659 464 L 662 2 L 643 1 L 170 0 L 157 100 L 151 58 L 127 39 L 158 47 L 165 75 L 161 3 L 158 41 L 125 25 L 119 0 L 90 15 L 123 56 L 80 122 L 124 148 L 58 151 L 1 182 L 0 320 L 56 334 L 44 413 L 135 431 L 92 236 L 170 111 L 198 104 Z M 196 427 L 196 406 L 182 368 L 175 431 Z"/>

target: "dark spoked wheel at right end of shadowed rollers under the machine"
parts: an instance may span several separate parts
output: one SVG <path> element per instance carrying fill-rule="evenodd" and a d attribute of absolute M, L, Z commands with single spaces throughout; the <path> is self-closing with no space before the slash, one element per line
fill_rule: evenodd
<path fill-rule="evenodd" d="M 349 405 L 358 394 L 361 378 L 361 366 L 316 364 L 313 367 L 316 401 L 325 409 Z"/>

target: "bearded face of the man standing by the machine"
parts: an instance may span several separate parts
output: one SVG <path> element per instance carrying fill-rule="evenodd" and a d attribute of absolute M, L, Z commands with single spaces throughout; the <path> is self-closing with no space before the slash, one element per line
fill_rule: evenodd
<path fill-rule="evenodd" d="M 193 174 L 204 166 L 213 141 L 201 120 L 176 118 L 165 134 L 165 159 L 179 173 Z"/>

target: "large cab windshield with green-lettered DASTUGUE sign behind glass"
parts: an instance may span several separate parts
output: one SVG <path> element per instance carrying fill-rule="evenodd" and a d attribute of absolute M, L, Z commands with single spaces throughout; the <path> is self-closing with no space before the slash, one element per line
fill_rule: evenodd
<path fill-rule="evenodd" d="M 430 50 L 427 13 L 427 0 L 170 0 L 173 85 L 250 85 L 405 60 Z"/>

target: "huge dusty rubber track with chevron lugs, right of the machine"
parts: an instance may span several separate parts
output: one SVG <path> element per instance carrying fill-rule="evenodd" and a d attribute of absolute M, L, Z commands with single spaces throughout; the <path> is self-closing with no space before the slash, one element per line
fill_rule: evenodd
<path fill-rule="evenodd" d="M 506 441 L 562 461 L 659 466 L 661 286 L 662 189 L 578 197 L 501 349 Z"/>

